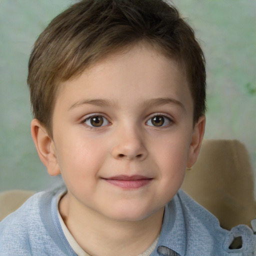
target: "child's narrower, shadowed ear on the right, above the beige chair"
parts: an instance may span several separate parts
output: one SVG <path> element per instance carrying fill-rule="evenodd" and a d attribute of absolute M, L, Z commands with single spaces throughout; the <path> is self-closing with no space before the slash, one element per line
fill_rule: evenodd
<path fill-rule="evenodd" d="M 191 142 L 187 156 L 187 168 L 191 168 L 197 160 L 205 128 L 205 115 L 201 115 L 193 127 Z"/>

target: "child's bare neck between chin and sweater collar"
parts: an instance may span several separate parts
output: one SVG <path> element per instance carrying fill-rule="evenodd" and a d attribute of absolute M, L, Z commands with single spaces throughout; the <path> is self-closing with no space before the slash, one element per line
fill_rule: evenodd
<path fill-rule="evenodd" d="M 119 221 L 79 206 L 70 203 L 66 194 L 59 202 L 59 212 L 74 239 L 90 255 L 139 255 L 160 233 L 164 207 L 142 220 Z"/>

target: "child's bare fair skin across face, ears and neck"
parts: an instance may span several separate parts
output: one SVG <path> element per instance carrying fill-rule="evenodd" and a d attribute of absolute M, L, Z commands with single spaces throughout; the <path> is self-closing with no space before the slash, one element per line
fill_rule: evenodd
<path fill-rule="evenodd" d="M 53 137 L 36 119 L 31 133 L 48 173 L 66 184 L 59 211 L 69 231 L 91 255 L 142 253 L 204 133 L 184 74 L 139 44 L 63 82 L 52 118 Z"/>

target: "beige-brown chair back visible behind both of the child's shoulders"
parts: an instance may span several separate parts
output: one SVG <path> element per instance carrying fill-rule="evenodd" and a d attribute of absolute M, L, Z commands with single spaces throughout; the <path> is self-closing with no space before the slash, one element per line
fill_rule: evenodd
<path fill-rule="evenodd" d="M 213 213 L 223 228 L 250 225 L 250 220 L 256 218 L 249 156 L 237 140 L 204 140 L 182 189 Z M 26 190 L 0 193 L 0 220 L 32 194 L 33 191 Z"/>

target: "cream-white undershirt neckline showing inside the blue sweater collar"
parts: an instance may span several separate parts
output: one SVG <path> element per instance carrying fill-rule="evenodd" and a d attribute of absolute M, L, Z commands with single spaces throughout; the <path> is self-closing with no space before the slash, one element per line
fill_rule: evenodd
<path fill-rule="evenodd" d="M 65 193 L 65 192 L 64 192 Z M 69 245 L 71 246 L 71 248 L 73 249 L 73 251 L 77 254 L 77 256 L 90 256 L 87 252 L 85 252 L 81 246 L 76 242 L 76 240 L 74 239 L 74 237 L 71 235 L 71 233 L 69 232 L 67 226 L 65 225 L 59 210 L 58 210 L 58 202 L 60 200 L 60 198 L 64 195 L 64 193 L 61 193 L 56 200 L 56 209 L 57 209 L 57 215 L 58 215 L 58 219 L 60 222 L 60 226 L 62 228 L 62 231 L 66 237 L 66 240 L 68 241 Z M 150 253 L 154 250 L 157 241 L 158 241 L 159 235 L 157 236 L 157 238 L 154 240 L 154 242 L 141 254 L 139 254 L 138 256 L 149 256 Z"/>

